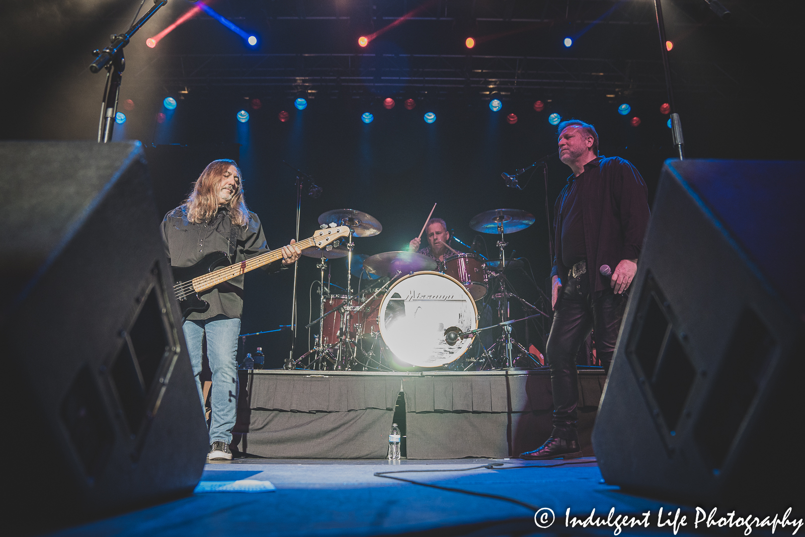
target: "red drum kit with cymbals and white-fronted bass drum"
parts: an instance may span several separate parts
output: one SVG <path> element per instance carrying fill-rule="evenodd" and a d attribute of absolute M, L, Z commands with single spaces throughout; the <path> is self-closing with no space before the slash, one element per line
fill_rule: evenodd
<path fill-rule="evenodd" d="M 493 370 L 541 366 L 517 341 L 509 316 L 511 299 L 518 300 L 532 316 L 545 315 L 514 292 L 506 275 L 522 261 L 506 258 L 506 235 L 534 224 L 534 217 L 519 209 L 494 209 L 477 214 L 470 227 L 498 235 L 500 257 L 460 253 L 437 262 L 411 251 L 382 252 L 372 256 L 353 254 L 353 238 L 377 235 L 380 222 L 355 209 L 335 209 L 319 217 L 321 228 L 336 225 L 351 230 L 345 246 L 324 250 L 308 248 L 302 254 L 318 258 L 320 269 L 319 317 L 306 328 L 318 333 L 308 353 L 288 359 L 286 369 L 303 370 L 419 370 L 447 367 L 451 370 Z M 460 241 L 459 241 L 460 242 Z M 463 242 L 460 242 L 464 244 Z M 466 246 L 466 245 L 464 245 Z M 332 294 L 325 280 L 328 261 L 345 258 L 345 294 Z M 352 279 L 359 279 L 353 291 Z M 360 290 L 360 282 L 374 280 L 374 288 Z M 382 283 L 382 285 L 381 285 Z M 479 305 L 497 302 L 501 321 L 479 328 Z M 491 318 L 491 315 L 489 315 Z M 501 335 L 488 349 L 477 341 L 481 331 L 500 327 Z M 477 352 L 469 352 L 470 347 Z"/>

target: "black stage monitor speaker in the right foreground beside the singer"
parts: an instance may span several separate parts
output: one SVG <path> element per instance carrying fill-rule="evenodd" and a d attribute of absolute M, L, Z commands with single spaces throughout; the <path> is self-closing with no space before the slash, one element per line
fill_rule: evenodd
<path fill-rule="evenodd" d="M 592 433 L 609 484 L 712 505 L 795 499 L 803 166 L 665 163 Z"/>

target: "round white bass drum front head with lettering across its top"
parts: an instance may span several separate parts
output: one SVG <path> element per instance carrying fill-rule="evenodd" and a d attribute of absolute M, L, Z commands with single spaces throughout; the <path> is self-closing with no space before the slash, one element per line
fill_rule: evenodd
<path fill-rule="evenodd" d="M 461 283 L 434 271 L 415 272 L 398 279 L 380 304 L 380 335 L 399 366 L 440 367 L 458 359 L 473 338 L 456 345 L 444 340 L 444 330 L 478 328 L 478 310 Z"/>

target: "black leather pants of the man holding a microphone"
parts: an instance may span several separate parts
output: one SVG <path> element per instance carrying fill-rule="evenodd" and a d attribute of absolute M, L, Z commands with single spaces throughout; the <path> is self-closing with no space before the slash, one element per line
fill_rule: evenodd
<path fill-rule="evenodd" d="M 596 356 L 609 373 L 609 363 L 615 351 L 617 333 L 626 304 L 625 295 L 606 289 L 597 298 L 590 294 L 589 275 L 563 280 L 564 286 L 556 300 L 551 335 L 546 357 L 551 366 L 553 390 L 553 432 L 551 436 L 578 440 L 576 420 L 579 403 L 579 384 L 576 374 L 576 353 L 595 329 Z"/>

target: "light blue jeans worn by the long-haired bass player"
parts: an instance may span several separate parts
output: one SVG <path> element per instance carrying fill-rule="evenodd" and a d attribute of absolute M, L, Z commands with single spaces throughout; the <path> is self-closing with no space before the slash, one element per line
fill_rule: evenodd
<path fill-rule="evenodd" d="M 213 412 L 209 423 L 209 443 L 221 440 L 232 442 L 232 429 L 237 416 L 237 336 L 241 331 L 240 319 L 215 316 L 212 319 L 186 320 L 182 324 L 184 339 L 196 377 L 196 388 L 204 408 L 201 392 L 201 353 L 204 333 L 207 333 L 207 360 L 213 372 L 210 403 Z"/>

